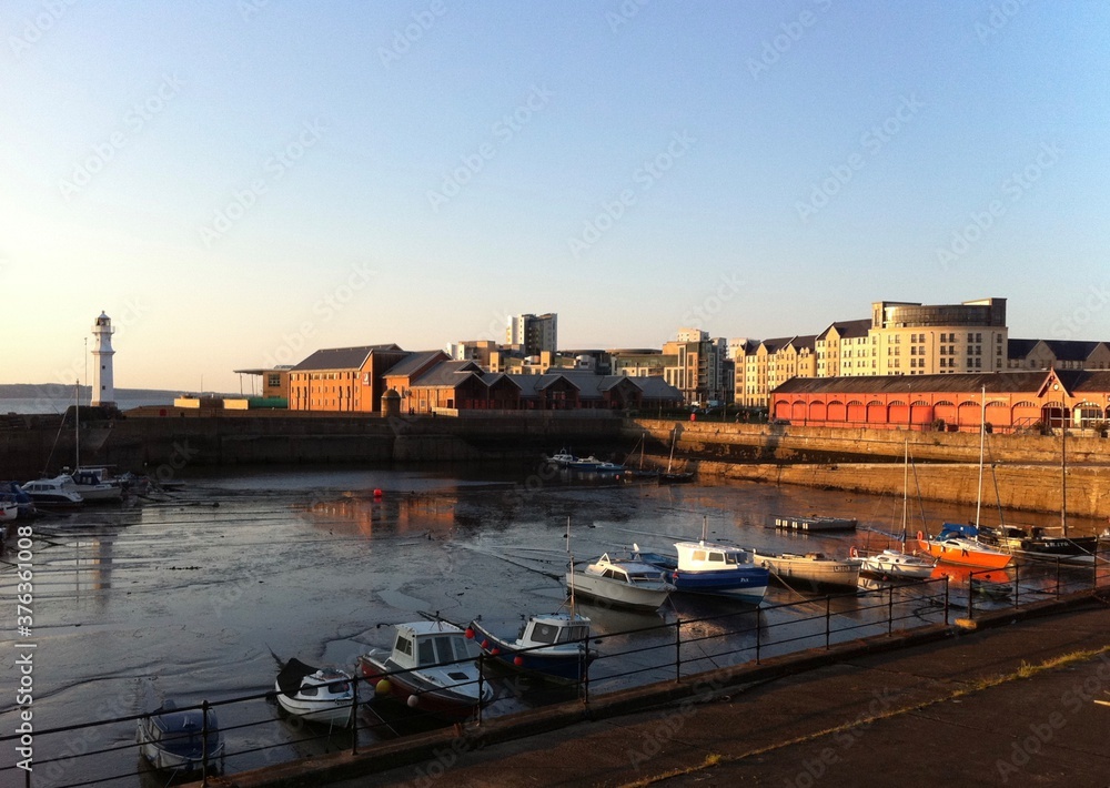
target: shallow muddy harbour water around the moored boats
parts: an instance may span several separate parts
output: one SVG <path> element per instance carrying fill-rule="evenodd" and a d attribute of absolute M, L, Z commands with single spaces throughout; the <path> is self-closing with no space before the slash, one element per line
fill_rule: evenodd
<path fill-rule="evenodd" d="M 374 491 L 382 496 L 375 497 Z M 857 517 L 856 534 L 806 536 L 764 526 L 771 513 Z M 972 513 L 973 514 L 973 513 Z M 167 698 L 179 706 L 263 694 L 280 660 L 351 669 L 374 646 L 389 646 L 390 624 L 438 613 L 465 623 L 518 622 L 522 614 L 555 609 L 564 600 L 567 534 L 576 559 L 625 554 L 633 543 L 666 549 L 696 538 L 764 549 L 818 549 L 839 556 L 851 544 L 886 546 L 869 528 L 900 527 L 901 499 L 748 483 L 719 486 L 566 485 L 518 471 L 467 473 L 359 468 L 206 472 L 194 474 L 163 499 L 124 508 L 89 508 L 33 524 L 33 724 L 37 731 L 74 723 L 138 715 Z M 958 507 L 926 504 L 934 529 L 942 519 L 967 519 Z M 1022 518 L 1052 525 L 1049 517 Z M 569 526 L 568 526 L 569 522 Z M 915 526 L 911 524 L 910 529 Z M 14 608 L 16 554 L 4 556 L 0 588 Z M 728 603 L 677 600 L 644 616 L 583 605 L 595 635 L 653 624 L 736 613 L 727 623 L 682 624 L 683 638 L 738 632 L 684 646 L 686 670 L 727 661 L 728 649 L 751 648 L 756 633 L 803 614 L 779 604 L 807 598 L 768 592 L 760 612 L 737 613 Z M 826 610 L 824 597 L 814 609 Z M 804 612 L 806 615 L 814 609 Z M 829 615 L 870 625 L 876 614 L 855 597 L 829 603 Z M 936 619 L 936 610 L 921 620 Z M 931 617 L 931 618 L 930 618 Z M 824 618 L 813 632 L 824 632 Z M 13 617 L 9 617 L 13 623 Z M 0 641 L 17 649 L 14 629 Z M 867 634 L 860 630 L 852 636 Z M 761 637 L 761 635 L 760 635 Z M 820 638 L 824 644 L 824 636 Z M 605 638 L 592 691 L 674 675 L 673 630 Z M 811 638 L 766 654 L 817 645 Z M 662 667 L 666 666 L 666 667 Z M 643 673 L 627 677 L 638 667 Z M 4 686 L 16 687 L 14 657 L 4 660 Z M 486 714 L 527 705 L 519 683 L 498 685 Z M 4 733 L 14 729 L 14 695 L 3 698 Z M 259 699 L 219 708 L 229 771 L 349 746 L 350 737 L 300 742 L 294 726 L 274 724 L 276 708 Z M 370 741 L 390 728 L 360 734 Z M 164 785 L 140 779 L 134 723 L 119 723 L 36 738 L 34 785 Z M 119 748 L 95 758 L 49 762 L 75 751 Z M 18 758 L 8 742 L 0 766 Z M 18 777 L 13 780 L 12 777 Z M 153 780 L 153 781 L 152 781 Z M 0 772 L 0 784 L 22 775 Z"/>

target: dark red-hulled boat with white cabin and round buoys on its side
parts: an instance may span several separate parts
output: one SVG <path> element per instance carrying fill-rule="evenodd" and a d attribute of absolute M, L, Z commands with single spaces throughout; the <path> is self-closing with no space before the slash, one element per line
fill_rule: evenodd
<path fill-rule="evenodd" d="M 359 657 L 359 670 L 391 696 L 447 723 L 465 720 L 493 700 L 477 659 L 482 649 L 462 627 L 444 620 L 394 625 L 393 647 Z"/>

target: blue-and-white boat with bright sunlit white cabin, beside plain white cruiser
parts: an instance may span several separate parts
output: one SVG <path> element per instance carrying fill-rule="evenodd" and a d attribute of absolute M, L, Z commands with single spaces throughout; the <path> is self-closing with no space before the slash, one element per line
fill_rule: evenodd
<path fill-rule="evenodd" d="M 767 592 L 770 573 L 756 566 L 743 547 L 706 542 L 706 518 L 702 518 L 698 542 L 676 542 L 677 555 L 642 553 L 633 545 L 634 557 L 668 573 L 675 590 L 686 594 L 728 596 L 758 605 Z"/>

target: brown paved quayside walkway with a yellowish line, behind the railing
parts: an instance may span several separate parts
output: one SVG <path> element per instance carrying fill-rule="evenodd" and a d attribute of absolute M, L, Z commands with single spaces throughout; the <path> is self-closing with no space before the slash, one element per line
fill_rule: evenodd
<path fill-rule="evenodd" d="M 430 757 L 327 785 L 1110 786 L 1110 706 L 1093 703 L 1110 700 L 1110 609 L 1098 603 L 685 700 L 652 697 L 484 747 L 444 731 Z"/>

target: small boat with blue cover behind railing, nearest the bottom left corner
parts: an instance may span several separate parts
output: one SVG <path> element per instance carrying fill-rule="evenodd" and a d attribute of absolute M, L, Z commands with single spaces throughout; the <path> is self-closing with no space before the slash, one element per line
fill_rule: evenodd
<path fill-rule="evenodd" d="M 223 738 L 212 709 L 178 710 L 172 700 L 139 719 L 139 752 L 155 769 L 167 771 L 218 770 Z"/>

